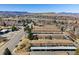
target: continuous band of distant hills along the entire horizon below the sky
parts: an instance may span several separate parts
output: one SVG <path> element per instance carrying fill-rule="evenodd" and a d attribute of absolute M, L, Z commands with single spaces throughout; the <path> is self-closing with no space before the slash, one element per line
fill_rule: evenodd
<path fill-rule="evenodd" d="M 60 12 L 60 13 L 55 13 L 55 12 L 47 12 L 47 13 L 29 13 L 29 12 L 20 12 L 20 11 L 0 11 L 0 16 L 5 17 L 5 16 L 21 16 L 21 15 L 29 15 L 29 14 L 36 14 L 36 15 L 63 15 L 63 16 L 75 16 L 79 17 L 79 13 L 71 13 L 71 12 Z"/>

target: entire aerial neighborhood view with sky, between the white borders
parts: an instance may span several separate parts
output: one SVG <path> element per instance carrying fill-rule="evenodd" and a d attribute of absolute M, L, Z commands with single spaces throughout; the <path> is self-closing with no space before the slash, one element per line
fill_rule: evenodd
<path fill-rule="evenodd" d="M 0 4 L 0 55 L 79 55 L 79 4 Z"/>

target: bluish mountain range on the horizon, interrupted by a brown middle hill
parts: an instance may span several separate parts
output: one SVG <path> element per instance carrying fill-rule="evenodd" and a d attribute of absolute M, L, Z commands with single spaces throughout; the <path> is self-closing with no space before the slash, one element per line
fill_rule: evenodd
<path fill-rule="evenodd" d="M 0 16 L 16 16 L 16 15 L 27 15 L 27 14 L 33 14 L 29 12 L 18 12 L 18 11 L 0 11 Z M 39 13 L 37 13 L 39 14 Z M 60 13 L 55 13 L 55 12 L 48 12 L 46 14 L 62 14 L 62 15 L 74 15 L 74 16 L 79 16 L 79 13 L 71 13 L 71 12 L 60 12 Z"/>

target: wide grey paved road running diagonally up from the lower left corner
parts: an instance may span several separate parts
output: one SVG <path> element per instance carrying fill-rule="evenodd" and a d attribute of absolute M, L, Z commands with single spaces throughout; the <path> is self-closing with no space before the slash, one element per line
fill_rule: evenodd
<path fill-rule="evenodd" d="M 0 47 L 0 55 L 3 54 L 6 48 L 9 48 L 9 50 L 12 52 L 15 46 L 19 43 L 19 40 L 23 35 L 24 35 L 23 29 L 21 29 L 15 35 L 13 35 L 12 38 L 6 44 L 4 44 L 4 46 Z"/>

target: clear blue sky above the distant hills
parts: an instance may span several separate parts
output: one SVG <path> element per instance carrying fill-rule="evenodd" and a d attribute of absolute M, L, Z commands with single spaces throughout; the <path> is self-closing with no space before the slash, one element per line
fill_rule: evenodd
<path fill-rule="evenodd" d="M 79 13 L 79 4 L 0 4 L 0 11 Z"/>

